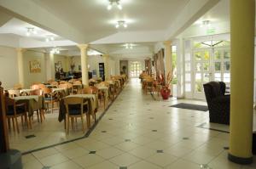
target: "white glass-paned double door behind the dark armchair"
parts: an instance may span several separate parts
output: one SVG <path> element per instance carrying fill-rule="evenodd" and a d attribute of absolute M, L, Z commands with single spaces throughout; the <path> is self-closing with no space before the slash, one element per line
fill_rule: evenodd
<path fill-rule="evenodd" d="M 225 82 L 230 90 L 230 48 L 201 48 L 193 51 L 193 98 L 205 99 L 203 84 Z"/>

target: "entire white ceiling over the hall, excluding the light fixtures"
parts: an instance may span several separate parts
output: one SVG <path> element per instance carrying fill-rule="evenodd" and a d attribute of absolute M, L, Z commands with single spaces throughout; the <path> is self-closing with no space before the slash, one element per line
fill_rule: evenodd
<path fill-rule="evenodd" d="M 229 0 L 209 0 L 208 2 L 213 1 L 219 3 L 216 6 L 212 3 L 214 7 L 206 11 L 207 14 L 204 13 L 198 16 L 197 12 L 194 11 L 199 20 L 193 25 L 190 24 L 191 26 L 186 31 L 195 35 L 194 30 L 198 30 L 198 24 L 201 23 L 201 20 L 211 20 L 212 23 L 229 21 Z M 12 34 L 24 40 L 28 38 L 26 37 L 26 27 L 37 28 L 38 34 L 29 38 L 41 43 L 36 47 L 29 46 L 27 48 L 39 48 L 41 45 L 42 48 L 49 49 L 59 46 L 63 51 L 76 51 L 79 53 L 79 48 L 76 47 L 77 43 L 69 41 L 71 38 L 65 36 L 65 32 L 69 32 L 73 36 L 85 37 L 86 40 L 84 41 L 91 42 L 90 48 L 101 51 L 103 54 L 132 58 L 138 57 L 138 55 L 148 57 L 148 54 L 153 54 L 155 44 L 165 41 L 164 35 L 166 31 L 168 28 L 172 28 L 170 25 L 178 25 L 182 21 L 185 22 L 180 16 L 185 16 L 189 19 L 191 17 L 189 14 L 193 15 L 191 12 L 193 8 L 199 5 L 201 7 L 198 10 L 205 8 L 203 2 L 207 2 L 207 0 L 121 0 L 123 9 L 113 8 L 110 11 L 107 9 L 108 0 L 75 0 L 72 3 L 70 0 L 20 0 L 14 6 L 10 2 L 15 2 L 15 0 L 3 0 L 2 2 L 6 4 L 1 4 L 0 2 L 0 12 L 1 5 L 5 5 L 7 8 L 9 4 L 9 8 L 14 8 L 14 16 L 17 16 L 20 20 L 13 18 L 0 27 L 0 36 L 1 34 Z M 16 9 L 17 6 L 21 6 L 23 3 L 26 3 L 24 5 L 28 8 L 27 15 L 24 9 L 21 11 L 18 10 L 19 8 Z M 36 11 L 33 11 L 32 7 L 35 7 Z M 41 13 L 38 12 L 37 14 L 37 10 L 41 11 Z M 16 15 L 18 12 L 20 12 L 20 15 Z M 24 17 L 21 13 L 24 14 Z M 40 14 L 45 14 L 45 18 L 44 15 Z M 34 15 L 36 15 L 35 18 L 33 18 Z M 23 19 L 26 21 L 21 21 Z M 36 19 L 39 20 L 37 23 L 35 22 Z M 128 27 L 126 29 L 116 29 L 114 25 L 117 20 L 126 20 Z M 187 22 L 190 23 L 188 20 Z M 67 27 L 63 23 L 67 24 Z M 45 24 L 49 25 L 49 27 Z M 64 29 L 65 32 L 64 34 L 58 34 L 54 29 L 50 29 L 50 26 L 55 26 L 56 29 L 60 30 Z M 180 26 L 183 27 L 182 24 Z M 45 37 L 49 35 L 55 36 L 55 43 L 49 44 L 45 42 Z M 186 36 L 185 34 L 181 35 Z M 126 49 L 124 47 L 125 42 L 134 43 L 134 48 Z M 35 41 L 32 41 L 32 43 L 35 43 Z"/>

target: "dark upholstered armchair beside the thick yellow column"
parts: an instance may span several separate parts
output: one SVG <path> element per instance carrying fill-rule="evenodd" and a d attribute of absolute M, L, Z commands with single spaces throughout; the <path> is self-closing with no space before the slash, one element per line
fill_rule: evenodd
<path fill-rule="evenodd" d="M 225 95 L 224 82 L 208 82 L 204 84 L 210 122 L 230 124 L 230 94 Z"/>

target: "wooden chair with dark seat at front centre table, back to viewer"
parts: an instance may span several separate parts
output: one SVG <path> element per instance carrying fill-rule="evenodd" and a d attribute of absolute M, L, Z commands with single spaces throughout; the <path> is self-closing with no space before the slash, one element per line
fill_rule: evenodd
<path fill-rule="evenodd" d="M 64 104 L 66 107 L 67 111 L 67 134 L 69 133 L 69 119 L 71 119 L 71 124 L 72 124 L 72 129 L 73 123 L 74 123 L 74 118 L 81 118 L 82 121 L 82 129 L 84 132 L 84 115 L 86 115 L 86 121 L 87 121 L 87 127 L 88 129 L 90 128 L 90 115 L 89 115 L 89 106 L 88 106 L 88 101 L 84 101 L 83 98 L 75 98 L 75 97 L 70 97 L 70 98 L 64 98 Z M 85 107 L 86 106 L 86 107 Z"/>

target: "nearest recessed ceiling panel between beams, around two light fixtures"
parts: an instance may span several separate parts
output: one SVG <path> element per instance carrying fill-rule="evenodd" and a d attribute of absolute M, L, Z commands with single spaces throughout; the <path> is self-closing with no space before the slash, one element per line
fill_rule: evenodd
<path fill-rule="evenodd" d="M 165 30 L 189 0 L 121 0 L 122 10 L 107 10 L 108 0 L 32 0 L 79 31 L 108 34 L 115 20 L 127 20 L 129 31 Z M 125 31 L 125 30 L 121 30 Z M 102 33 L 101 33 L 102 32 Z M 105 35 L 105 36 L 106 36 Z"/>

